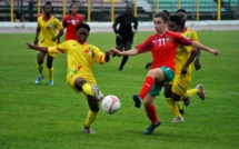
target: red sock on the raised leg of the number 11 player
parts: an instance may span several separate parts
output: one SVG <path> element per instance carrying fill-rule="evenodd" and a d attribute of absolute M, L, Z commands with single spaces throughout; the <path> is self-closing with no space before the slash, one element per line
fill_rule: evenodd
<path fill-rule="evenodd" d="M 151 88 L 153 87 L 155 83 L 155 78 L 152 77 L 146 77 L 146 80 L 142 85 L 142 88 L 139 92 L 139 97 L 143 100 L 143 98 L 149 93 L 149 91 L 151 90 Z"/>

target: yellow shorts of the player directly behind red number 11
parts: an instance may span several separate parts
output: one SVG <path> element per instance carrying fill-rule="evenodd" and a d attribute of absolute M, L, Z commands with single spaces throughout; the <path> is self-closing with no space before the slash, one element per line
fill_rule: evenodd
<path fill-rule="evenodd" d="M 183 96 L 187 92 L 190 81 L 182 76 L 176 76 L 172 80 L 171 91 L 176 95 Z"/>

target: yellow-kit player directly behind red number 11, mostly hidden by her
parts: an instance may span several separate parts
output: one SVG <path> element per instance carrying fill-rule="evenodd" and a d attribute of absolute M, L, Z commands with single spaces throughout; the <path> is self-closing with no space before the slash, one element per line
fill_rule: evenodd
<path fill-rule="evenodd" d="M 180 32 L 181 31 L 181 18 L 177 14 L 170 16 L 170 22 L 168 29 L 170 31 Z M 185 34 L 191 34 L 191 30 L 186 30 L 186 32 L 180 32 L 183 37 L 190 39 Z M 169 109 L 175 115 L 172 122 L 183 122 L 181 98 L 185 96 L 188 85 L 191 81 L 191 63 L 197 57 L 198 50 L 191 46 L 179 46 L 176 53 L 176 73 L 173 81 L 166 82 L 165 85 L 165 97 L 169 105 Z M 175 97 L 175 98 L 172 98 Z M 179 100 L 180 98 L 180 100 Z M 182 107 L 181 107 L 182 108 Z"/>

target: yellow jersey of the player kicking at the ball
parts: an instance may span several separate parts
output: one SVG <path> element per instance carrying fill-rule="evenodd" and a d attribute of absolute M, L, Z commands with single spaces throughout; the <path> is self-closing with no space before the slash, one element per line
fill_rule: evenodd
<path fill-rule="evenodd" d="M 81 76 L 86 80 L 94 80 L 92 64 L 104 63 L 104 53 L 96 46 L 88 42 L 79 43 L 77 40 L 68 40 L 57 47 L 49 47 L 49 53 L 67 53 L 68 77 Z"/>

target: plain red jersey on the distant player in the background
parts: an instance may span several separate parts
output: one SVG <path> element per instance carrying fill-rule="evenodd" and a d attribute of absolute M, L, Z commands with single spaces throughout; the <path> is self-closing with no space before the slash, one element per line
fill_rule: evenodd
<path fill-rule="evenodd" d="M 77 31 L 76 28 L 79 23 L 83 21 L 83 17 L 81 14 L 76 14 L 71 17 L 70 14 L 64 16 L 62 20 L 63 28 L 67 28 L 64 40 L 77 40 Z"/>

